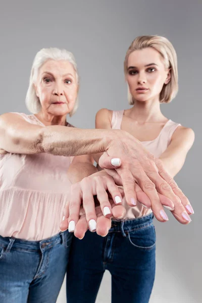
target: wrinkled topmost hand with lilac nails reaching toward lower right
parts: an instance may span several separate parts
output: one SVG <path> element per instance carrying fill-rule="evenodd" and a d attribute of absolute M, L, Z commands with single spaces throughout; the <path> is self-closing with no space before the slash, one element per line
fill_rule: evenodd
<path fill-rule="evenodd" d="M 115 167 L 115 170 L 121 178 L 127 203 L 130 206 L 136 204 L 136 182 L 149 198 L 151 209 L 159 221 L 167 221 L 159 196 L 161 194 L 172 201 L 174 217 L 182 224 L 189 223 L 191 221 L 188 215 L 191 214 L 188 211 L 189 201 L 166 172 L 162 161 L 151 155 L 140 141 L 127 132 L 120 131 L 118 134 L 118 138 L 108 144 L 106 152 L 100 157 L 99 166 L 113 176 L 114 170 L 109 169 L 108 158 L 121 159 L 121 166 Z"/>

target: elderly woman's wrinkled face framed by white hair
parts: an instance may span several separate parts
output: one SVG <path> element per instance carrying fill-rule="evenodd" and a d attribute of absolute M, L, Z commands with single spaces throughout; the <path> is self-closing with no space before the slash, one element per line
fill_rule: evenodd
<path fill-rule="evenodd" d="M 46 61 L 39 69 L 35 91 L 42 110 L 54 116 L 70 113 L 78 92 L 76 72 L 68 61 Z"/>

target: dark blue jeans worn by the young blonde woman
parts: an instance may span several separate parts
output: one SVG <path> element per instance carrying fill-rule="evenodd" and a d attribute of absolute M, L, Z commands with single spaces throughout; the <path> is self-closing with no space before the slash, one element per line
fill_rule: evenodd
<path fill-rule="evenodd" d="M 155 279 L 153 214 L 113 221 L 106 237 L 73 237 L 67 271 L 67 302 L 94 303 L 105 270 L 112 275 L 112 303 L 147 303 Z"/>

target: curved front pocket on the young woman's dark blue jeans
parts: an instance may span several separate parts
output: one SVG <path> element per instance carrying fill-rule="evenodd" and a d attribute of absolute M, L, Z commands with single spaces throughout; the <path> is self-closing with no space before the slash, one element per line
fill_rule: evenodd
<path fill-rule="evenodd" d="M 150 250 L 156 245 L 156 232 L 153 224 L 128 232 L 130 243 L 138 249 Z"/>

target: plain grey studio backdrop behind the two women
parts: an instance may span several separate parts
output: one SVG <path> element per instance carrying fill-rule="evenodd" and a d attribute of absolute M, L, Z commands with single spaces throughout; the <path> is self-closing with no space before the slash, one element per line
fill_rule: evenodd
<path fill-rule="evenodd" d="M 175 178 L 195 214 L 188 226 L 180 225 L 169 213 L 168 223 L 155 220 L 157 274 L 151 303 L 202 302 L 201 15 L 200 0 L 1 2 L 0 113 L 27 113 L 31 64 L 42 47 L 65 47 L 76 57 L 80 105 L 70 122 L 82 128 L 94 127 L 100 108 L 129 108 L 123 61 L 135 36 L 164 35 L 176 49 L 179 93 L 162 111 L 195 131 L 194 145 Z M 108 303 L 110 296 L 106 273 L 97 302 Z M 63 286 L 58 303 L 65 301 Z"/>

